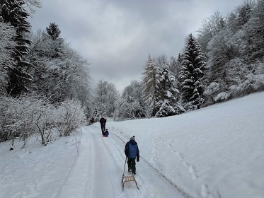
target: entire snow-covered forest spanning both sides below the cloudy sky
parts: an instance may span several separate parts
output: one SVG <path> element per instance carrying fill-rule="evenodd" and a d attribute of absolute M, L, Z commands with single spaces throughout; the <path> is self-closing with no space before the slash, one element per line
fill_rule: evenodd
<path fill-rule="evenodd" d="M 91 88 L 88 59 L 60 37 L 59 25 L 31 31 L 27 18 L 40 1 L 0 6 L 0 142 L 25 146 L 36 134 L 46 145 L 91 117 L 167 117 L 264 91 L 264 0 L 226 16 L 215 11 L 175 57 L 149 52 L 142 78 L 122 93 L 104 80 Z"/>

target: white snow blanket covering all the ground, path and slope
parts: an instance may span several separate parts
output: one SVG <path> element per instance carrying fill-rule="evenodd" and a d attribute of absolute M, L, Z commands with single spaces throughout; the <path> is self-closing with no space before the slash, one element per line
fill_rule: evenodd
<path fill-rule="evenodd" d="M 0 144 L 0 197 L 264 197 L 264 92 L 165 118 L 84 126 L 40 146 Z M 136 180 L 121 178 L 135 136 Z M 127 168 L 127 166 L 126 166 Z M 127 174 L 127 170 L 125 170 Z"/>

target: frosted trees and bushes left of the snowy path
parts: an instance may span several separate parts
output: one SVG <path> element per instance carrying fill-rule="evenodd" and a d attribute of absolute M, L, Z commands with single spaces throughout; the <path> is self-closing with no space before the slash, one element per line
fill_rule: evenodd
<path fill-rule="evenodd" d="M 69 136 L 89 111 L 88 61 L 60 37 L 56 23 L 30 32 L 24 7 L 39 1 L 0 4 L 0 141 L 26 143 L 38 134 L 45 145 Z"/>

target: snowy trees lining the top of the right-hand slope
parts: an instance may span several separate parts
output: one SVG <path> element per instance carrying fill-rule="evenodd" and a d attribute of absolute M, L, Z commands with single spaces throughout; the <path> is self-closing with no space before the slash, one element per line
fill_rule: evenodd
<path fill-rule="evenodd" d="M 108 103 L 107 94 L 98 94 L 93 116 L 166 117 L 264 91 L 263 55 L 263 0 L 244 1 L 227 16 L 216 11 L 177 57 L 149 55 L 142 80 L 132 81 L 120 100 Z"/>

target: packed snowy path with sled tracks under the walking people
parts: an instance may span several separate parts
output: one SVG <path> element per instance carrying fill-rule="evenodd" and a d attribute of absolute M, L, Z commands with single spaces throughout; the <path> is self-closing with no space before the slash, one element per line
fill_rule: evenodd
<path fill-rule="evenodd" d="M 114 134 L 108 138 L 101 136 L 96 127 L 83 128 L 82 141 L 86 139 L 86 143 L 81 143 L 78 161 L 87 162 L 88 197 L 183 197 L 143 158 L 137 163 L 136 180 L 139 190 L 134 182 L 125 182 L 125 190 L 122 191 L 125 142 Z"/>

